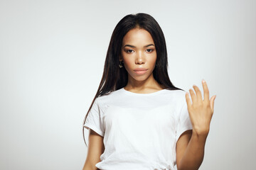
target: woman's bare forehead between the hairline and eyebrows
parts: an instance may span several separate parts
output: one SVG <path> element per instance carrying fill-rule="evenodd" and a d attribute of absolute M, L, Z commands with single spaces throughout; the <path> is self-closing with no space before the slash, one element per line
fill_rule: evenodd
<path fill-rule="evenodd" d="M 129 30 L 123 38 L 123 45 L 131 44 L 131 45 L 145 45 L 148 43 L 154 44 L 154 40 L 151 37 L 150 33 L 147 30 L 142 28 L 134 28 Z"/>

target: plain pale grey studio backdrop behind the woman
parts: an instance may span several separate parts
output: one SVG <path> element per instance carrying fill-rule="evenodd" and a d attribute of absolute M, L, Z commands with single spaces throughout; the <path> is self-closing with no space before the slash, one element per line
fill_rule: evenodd
<path fill-rule="evenodd" d="M 256 1 L 0 1 L 0 169 L 82 169 L 82 121 L 117 23 L 149 13 L 169 77 L 206 79 L 215 110 L 200 169 L 253 169 Z M 87 132 L 87 131 L 86 131 Z"/>

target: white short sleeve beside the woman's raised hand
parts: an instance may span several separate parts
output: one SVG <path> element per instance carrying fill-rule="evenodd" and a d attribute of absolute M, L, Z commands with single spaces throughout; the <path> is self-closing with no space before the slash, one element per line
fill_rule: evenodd
<path fill-rule="evenodd" d="M 188 106 L 185 101 L 185 103 L 183 103 L 183 106 L 181 108 L 181 113 L 179 115 L 178 123 L 176 125 L 176 142 L 178 141 L 178 138 L 181 136 L 183 132 L 185 132 L 186 130 L 192 130 L 192 129 L 193 129 L 193 126 L 189 118 Z"/>

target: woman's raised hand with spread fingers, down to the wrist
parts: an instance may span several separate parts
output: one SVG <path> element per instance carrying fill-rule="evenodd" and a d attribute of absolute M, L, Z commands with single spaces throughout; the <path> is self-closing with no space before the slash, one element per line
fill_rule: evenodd
<path fill-rule="evenodd" d="M 189 117 L 193 126 L 193 133 L 196 133 L 196 135 L 207 136 L 210 130 L 210 120 L 213 116 L 213 107 L 216 95 L 212 96 L 209 100 L 209 90 L 206 81 L 202 80 L 202 84 L 204 93 L 203 98 L 200 89 L 196 85 L 193 85 L 193 89 L 195 89 L 196 94 L 192 89 L 189 89 L 192 103 L 188 92 L 186 92 L 185 96 L 186 103 L 188 105 Z"/>

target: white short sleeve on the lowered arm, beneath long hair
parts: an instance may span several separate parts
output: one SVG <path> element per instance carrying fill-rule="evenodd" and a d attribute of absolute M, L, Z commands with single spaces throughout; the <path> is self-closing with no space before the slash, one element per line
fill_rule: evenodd
<path fill-rule="evenodd" d="M 98 98 L 95 99 L 95 102 L 93 103 L 92 108 L 90 109 L 87 115 L 87 118 L 85 120 L 85 124 L 83 126 L 87 130 L 89 130 L 90 128 L 91 130 L 94 130 L 95 132 L 97 132 L 97 134 L 104 137 L 105 130 L 102 125 L 102 116 L 100 112 L 101 110 L 100 110 L 100 106 L 97 99 Z"/>

